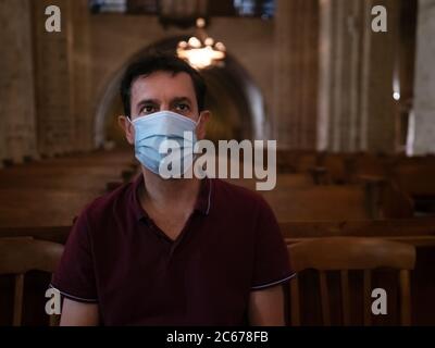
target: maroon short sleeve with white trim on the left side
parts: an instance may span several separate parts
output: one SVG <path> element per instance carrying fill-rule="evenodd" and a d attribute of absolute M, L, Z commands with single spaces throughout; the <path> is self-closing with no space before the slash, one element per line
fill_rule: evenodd
<path fill-rule="evenodd" d="M 75 301 L 98 301 L 86 210 L 74 223 L 51 286 Z"/>

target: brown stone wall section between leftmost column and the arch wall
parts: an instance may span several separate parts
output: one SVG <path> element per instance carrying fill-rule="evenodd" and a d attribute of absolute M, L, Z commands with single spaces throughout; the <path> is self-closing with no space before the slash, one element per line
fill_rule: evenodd
<path fill-rule="evenodd" d="M 86 0 L 34 1 L 38 149 L 42 156 L 92 148 L 89 34 Z M 45 9 L 58 5 L 61 33 L 45 28 Z"/>

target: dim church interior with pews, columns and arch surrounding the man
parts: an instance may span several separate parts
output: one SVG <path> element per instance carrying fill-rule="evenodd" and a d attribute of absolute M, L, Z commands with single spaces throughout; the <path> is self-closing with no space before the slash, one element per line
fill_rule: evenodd
<path fill-rule="evenodd" d="M 290 326 L 435 325 L 434 0 L 0 0 L 0 325 L 55 324 L 74 219 L 139 171 L 119 89 L 153 52 L 204 77 L 208 139 L 276 140 L 258 194 Z"/>

